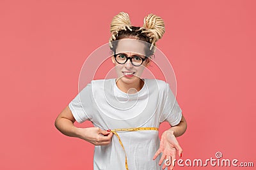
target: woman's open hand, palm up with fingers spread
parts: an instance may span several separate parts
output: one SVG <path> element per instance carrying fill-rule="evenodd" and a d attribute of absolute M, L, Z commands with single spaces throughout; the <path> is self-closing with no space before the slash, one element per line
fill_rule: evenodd
<path fill-rule="evenodd" d="M 161 159 L 159 160 L 159 166 L 161 166 L 163 160 L 165 159 L 162 169 L 165 169 L 166 166 L 169 166 L 168 169 L 173 169 L 173 160 L 176 159 L 177 152 L 181 157 L 182 148 L 180 147 L 177 139 L 175 138 L 173 131 L 169 129 L 168 131 L 163 132 L 159 150 L 157 150 L 153 159 L 155 160 L 160 153 L 163 153 Z"/>

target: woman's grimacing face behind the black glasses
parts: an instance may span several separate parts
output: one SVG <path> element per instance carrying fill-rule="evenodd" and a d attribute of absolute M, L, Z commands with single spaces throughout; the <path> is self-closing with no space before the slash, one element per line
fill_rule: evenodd
<path fill-rule="evenodd" d="M 139 56 L 145 59 L 145 42 L 138 39 L 120 39 L 116 47 L 116 54 L 125 53 L 128 57 Z M 120 58 L 125 58 L 125 55 L 121 55 Z M 131 60 L 127 60 L 125 64 L 119 64 L 116 62 L 115 57 L 111 57 L 112 62 L 115 64 L 118 80 L 122 80 L 124 83 L 134 83 L 140 80 L 140 76 L 146 66 L 149 65 L 150 59 L 146 59 L 140 66 L 134 66 Z M 134 63 L 139 58 L 134 58 Z"/>

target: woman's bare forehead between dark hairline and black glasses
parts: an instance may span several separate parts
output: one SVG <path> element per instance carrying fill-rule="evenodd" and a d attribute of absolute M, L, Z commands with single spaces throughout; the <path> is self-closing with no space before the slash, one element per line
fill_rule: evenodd
<path fill-rule="evenodd" d="M 145 55 L 145 45 L 147 42 L 138 39 L 120 39 L 116 47 L 116 53 L 132 52 Z"/>

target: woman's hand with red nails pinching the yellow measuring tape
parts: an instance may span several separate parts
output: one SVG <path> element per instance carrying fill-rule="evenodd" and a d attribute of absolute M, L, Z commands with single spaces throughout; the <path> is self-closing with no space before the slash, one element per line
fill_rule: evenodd
<path fill-rule="evenodd" d="M 113 132 L 104 131 L 99 127 L 79 128 L 79 138 L 92 143 L 95 146 L 109 145 Z"/>

